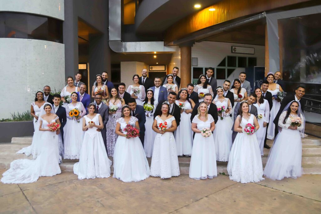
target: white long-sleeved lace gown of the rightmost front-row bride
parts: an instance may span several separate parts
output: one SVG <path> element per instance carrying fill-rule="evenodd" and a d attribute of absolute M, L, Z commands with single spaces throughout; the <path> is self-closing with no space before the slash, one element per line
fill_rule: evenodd
<path fill-rule="evenodd" d="M 300 133 L 303 125 L 299 126 L 297 130 L 288 129 L 291 125 L 291 115 L 283 124 L 286 113 L 287 111 L 284 111 L 280 116 L 278 125 L 282 128 L 282 131 L 276 135 L 263 173 L 267 178 L 273 180 L 282 180 L 284 177 L 297 178 L 303 174 Z M 303 124 L 302 115 L 301 121 Z"/>

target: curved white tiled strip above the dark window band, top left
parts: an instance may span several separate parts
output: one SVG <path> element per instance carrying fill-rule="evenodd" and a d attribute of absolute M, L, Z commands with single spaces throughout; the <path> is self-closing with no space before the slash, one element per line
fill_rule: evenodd
<path fill-rule="evenodd" d="M 64 0 L 0 0 L 0 11 L 33 13 L 65 20 L 64 2 Z"/>

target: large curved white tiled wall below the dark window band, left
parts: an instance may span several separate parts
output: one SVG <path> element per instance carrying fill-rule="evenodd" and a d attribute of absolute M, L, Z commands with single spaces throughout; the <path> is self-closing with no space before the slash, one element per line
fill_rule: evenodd
<path fill-rule="evenodd" d="M 65 45 L 35 39 L 0 38 L 0 118 L 30 110 L 35 92 L 65 86 Z"/>

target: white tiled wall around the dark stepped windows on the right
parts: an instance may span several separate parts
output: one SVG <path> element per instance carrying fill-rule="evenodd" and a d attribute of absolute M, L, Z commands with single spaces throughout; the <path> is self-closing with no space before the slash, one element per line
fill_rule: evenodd
<path fill-rule="evenodd" d="M 255 54 L 233 54 L 231 46 L 254 47 Z M 192 47 L 192 57 L 198 58 L 197 67 L 216 67 L 226 56 L 256 57 L 256 65 L 265 66 L 265 46 L 203 41 L 196 42 Z M 228 79 L 232 82 L 232 80 L 239 78 L 239 73 L 242 71 L 245 71 L 245 68 L 235 69 Z M 223 81 L 218 80 L 217 85 L 222 85 Z"/>

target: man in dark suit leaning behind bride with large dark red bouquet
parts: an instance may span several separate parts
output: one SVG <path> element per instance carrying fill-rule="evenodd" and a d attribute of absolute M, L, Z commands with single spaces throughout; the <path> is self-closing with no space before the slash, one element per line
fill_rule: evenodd
<path fill-rule="evenodd" d="M 146 115 L 143 106 L 137 105 L 136 100 L 134 98 L 130 98 L 128 102 L 128 106 L 132 113 L 132 116 L 138 119 L 139 124 L 139 139 L 141 140 L 144 146 L 144 138 L 145 138 L 145 123 L 146 123 Z"/>

